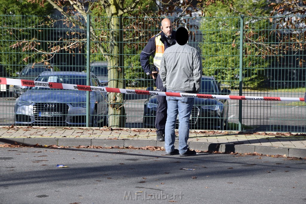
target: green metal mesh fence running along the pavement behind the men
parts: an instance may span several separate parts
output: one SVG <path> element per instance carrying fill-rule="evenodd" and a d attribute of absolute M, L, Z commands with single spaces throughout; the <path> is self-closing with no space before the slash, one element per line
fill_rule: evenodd
<path fill-rule="evenodd" d="M 195 16 L 170 20 L 174 30 L 188 29 L 189 44 L 201 54 L 201 93 L 304 97 L 305 29 L 282 24 L 280 18 Z M 49 71 L 37 80 L 102 87 L 121 83 L 120 88 L 154 90 L 154 80 L 140 66 L 140 52 L 160 32 L 161 19 L 122 17 L 118 30 L 110 29 L 118 19 L 88 19 L 0 16 L 0 77 L 34 80 Z M 120 63 L 110 63 L 113 58 Z M 1 84 L 1 91 L 0 125 L 108 126 L 113 114 L 110 109 L 118 105 L 124 107 L 120 113 L 124 127 L 154 128 L 157 105 L 148 95 L 106 95 L 20 84 Z M 115 101 L 117 97 L 122 101 Z M 305 105 L 199 98 L 192 109 L 191 129 L 305 132 Z"/>

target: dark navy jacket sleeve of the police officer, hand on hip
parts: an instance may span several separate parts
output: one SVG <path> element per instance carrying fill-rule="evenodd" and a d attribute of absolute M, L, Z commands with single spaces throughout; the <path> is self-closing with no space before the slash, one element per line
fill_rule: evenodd
<path fill-rule="evenodd" d="M 149 39 L 149 42 L 140 53 L 140 65 L 147 75 L 152 73 L 149 64 L 149 58 L 151 55 L 155 54 L 155 50 L 155 37 L 152 37 L 151 39 Z"/>

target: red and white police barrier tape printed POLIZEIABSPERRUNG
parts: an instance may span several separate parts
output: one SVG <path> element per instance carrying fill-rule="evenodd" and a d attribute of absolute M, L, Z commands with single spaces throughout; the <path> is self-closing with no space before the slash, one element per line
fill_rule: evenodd
<path fill-rule="evenodd" d="M 78 91 L 98 91 L 98 92 L 113 92 L 113 93 L 123 93 L 123 94 L 175 96 L 175 97 L 189 97 L 189 98 L 212 98 L 212 99 L 226 99 L 226 100 L 232 99 L 232 100 L 256 100 L 256 101 L 303 101 L 303 102 L 305 101 L 304 98 L 173 93 L 173 92 L 160 92 L 160 91 L 145 91 L 145 90 L 136 90 L 136 89 L 86 86 L 86 85 L 77 85 L 77 84 L 68 84 L 68 83 L 31 81 L 31 80 L 1 78 L 1 77 L 0 77 L 0 84 L 27 86 L 27 87 L 49 87 L 55 89 L 69 89 L 69 90 L 78 90 Z"/>

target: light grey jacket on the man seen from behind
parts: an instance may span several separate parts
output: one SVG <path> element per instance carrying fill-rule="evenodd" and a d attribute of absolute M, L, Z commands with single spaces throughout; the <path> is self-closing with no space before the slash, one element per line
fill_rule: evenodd
<path fill-rule="evenodd" d="M 173 91 L 198 93 L 202 79 L 202 62 L 198 50 L 188 44 L 168 47 L 160 64 L 163 86 Z"/>

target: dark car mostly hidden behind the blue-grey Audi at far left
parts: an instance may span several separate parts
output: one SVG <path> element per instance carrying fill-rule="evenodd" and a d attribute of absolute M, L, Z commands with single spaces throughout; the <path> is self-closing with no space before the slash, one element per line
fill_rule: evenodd
<path fill-rule="evenodd" d="M 55 69 L 55 70 L 54 70 Z M 54 64 L 51 65 L 44 65 L 44 63 L 29 63 L 26 65 L 21 72 L 16 72 L 18 75 L 16 79 L 23 79 L 23 80 L 34 80 L 41 72 L 43 71 L 58 71 Z M 22 93 L 27 91 L 29 87 L 27 86 L 13 86 L 13 95 L 17 98 Z"/>

